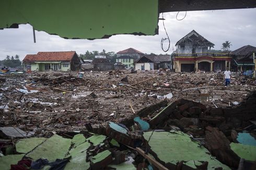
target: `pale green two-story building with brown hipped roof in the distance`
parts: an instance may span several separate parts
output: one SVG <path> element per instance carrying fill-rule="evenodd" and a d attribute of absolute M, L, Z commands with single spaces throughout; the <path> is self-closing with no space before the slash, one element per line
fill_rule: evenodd
<path fill-rule="evenodd" d="M 125 65 L 125 68 L 134 68 L 135 61 L 139 59 L 144 54 L 138 50 L 135 50 L 134 48 L 128 48 L 123 51 L 119 51 L 117 53 L 117 63 L 122 63 Z"/>

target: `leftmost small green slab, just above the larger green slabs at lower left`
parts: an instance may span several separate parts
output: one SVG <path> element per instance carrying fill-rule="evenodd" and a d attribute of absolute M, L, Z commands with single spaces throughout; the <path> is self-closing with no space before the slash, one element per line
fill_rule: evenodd
<path fill-rule="evenodd" d="M 29 151 L 32 151 L 34 148 L 37 147 L 37 145 L 41 144 L 45 140 L 46 140 L 46 138 L 20 139 L 15 144 L 16 151 L 19 153 L 28 153 Z"/>

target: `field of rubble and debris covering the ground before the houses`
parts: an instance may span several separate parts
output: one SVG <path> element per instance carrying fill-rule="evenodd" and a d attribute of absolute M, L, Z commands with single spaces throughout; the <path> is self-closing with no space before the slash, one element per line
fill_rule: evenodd
<path fill-rule="evenodd" d="M 159 73 L 1 75 L 0 169 L 256 166 L 253 79 Z"/>

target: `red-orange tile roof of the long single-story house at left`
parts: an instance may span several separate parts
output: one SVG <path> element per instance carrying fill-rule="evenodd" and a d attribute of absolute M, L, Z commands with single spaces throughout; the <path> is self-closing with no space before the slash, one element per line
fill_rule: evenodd
<path fill-rule="evenodd" d="M 68 52 L 38 52 L 37 54 L 28 54 L 23 62 L 56 62 L 70 61 L 76 54 L 75 51 Z"/>

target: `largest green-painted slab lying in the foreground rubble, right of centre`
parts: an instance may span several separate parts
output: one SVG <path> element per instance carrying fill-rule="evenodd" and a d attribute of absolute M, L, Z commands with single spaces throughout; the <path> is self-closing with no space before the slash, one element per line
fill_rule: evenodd
<path fill-rule="evenodd" d="M 152 131 L 144 132 L 143 136 L 148 140 L 150 135 Z M 230 169 L 208 154 L 210 152 L 206 148 L 200 147 L 199 143 L 192 141 L 187 134 L 180 131 L 155 131 L 149 140 L 149 145 L 158 158 L 165 163 L 176 164 L 180 161 L 189 161 L 188 165 L 195 167 L 191 161 L 195 161 L 196 164 L 199 161 L 207 161 L 208 169 L 216 167 Z"/>

